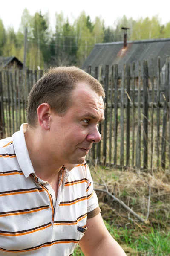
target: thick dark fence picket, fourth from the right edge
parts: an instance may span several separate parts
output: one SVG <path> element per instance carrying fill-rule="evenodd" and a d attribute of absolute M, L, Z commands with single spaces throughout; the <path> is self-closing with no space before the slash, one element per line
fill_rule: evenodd
<path fill-rule="evenodd" d="M 144 145 L 144 169 L 148 168 L 148 65 L 143 62 L 143 88 L 144 88 L 144 117 L 143 117 L 143 145 Z"/>

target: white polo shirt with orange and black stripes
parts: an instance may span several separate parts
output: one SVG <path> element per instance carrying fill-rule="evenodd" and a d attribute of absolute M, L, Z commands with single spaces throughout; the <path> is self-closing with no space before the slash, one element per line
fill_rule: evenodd
<path fill-rule="evenodd" d="M 35 175 L 24 129 L 0 140 L 0 256 L 69 256 L 100 212 L 86 163 L 60 170 L 58 196 Z"/>

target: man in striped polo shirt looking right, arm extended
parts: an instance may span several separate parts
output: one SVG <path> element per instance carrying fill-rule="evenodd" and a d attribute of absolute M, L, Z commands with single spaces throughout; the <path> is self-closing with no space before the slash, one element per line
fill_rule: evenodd
<path fill-rule="evenodd" d="M 124 256 L 101 218 L 85 157 L 101 140 L 104 90 L 76 67 L 32 87 L 27 120 L 0 141 L 0 255 Z"/>

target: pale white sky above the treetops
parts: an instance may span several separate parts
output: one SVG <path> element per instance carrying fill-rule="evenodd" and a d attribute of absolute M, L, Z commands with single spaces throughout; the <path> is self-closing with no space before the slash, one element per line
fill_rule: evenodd
<path fill-rule="evenodd" d="M 13 26 L 16 32 L 24 8 L 27 8 L 31 15 L 40 10 L 42 14 L 49 12 L 52 29 L 55 27 L 55 12 L 62 11 L 65 17 L 74 20 L 83 10 L 86 15 L 90 15 L 92 21 L 96 16 L 101 16 L 106 26 L 113 26 L 123 15 L 133 17 L 134 20 L 158 15 L 162 24 L 165 24 L 170 21 L 168 5 L 168 0 L 0 0 L 0 18 L 6 29 Z"/>

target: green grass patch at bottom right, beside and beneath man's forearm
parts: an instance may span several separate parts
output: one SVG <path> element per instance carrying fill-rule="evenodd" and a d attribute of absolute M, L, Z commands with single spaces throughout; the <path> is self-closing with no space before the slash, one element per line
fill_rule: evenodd
<path fill-rule="evenodd" d="M 170 256 L 170 231 L 150 228 L 147 233 L 140 229 L 116 228 L 105 221 L 109 233 L 124 248 L 127 255 L 134 256 Z M 73 256 L 84 256 L 80 247 L 77 247 Z"/>

